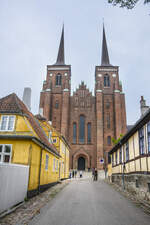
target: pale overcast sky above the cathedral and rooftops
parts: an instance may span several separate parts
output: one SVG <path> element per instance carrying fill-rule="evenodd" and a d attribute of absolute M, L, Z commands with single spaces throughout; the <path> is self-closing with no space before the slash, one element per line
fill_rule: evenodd
<path fill-rule="evenodd" d="M 101 62 L 102 21 L 110 63 L 120 67 L 128 124 L 140 117 L 140 96 L 150 105 L 150 4 L 133 10 L 107 0 L 0 0 L 0 98 L 32 88 L 38 113 L 46 66 L 57 57 L 65 24 L 65 60 L 72 66 L 72 90 L 84 80 L 94 90 Z"/>

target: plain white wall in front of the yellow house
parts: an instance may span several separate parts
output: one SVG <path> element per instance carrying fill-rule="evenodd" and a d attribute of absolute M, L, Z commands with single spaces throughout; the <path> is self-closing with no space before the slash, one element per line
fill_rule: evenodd
<path fill-rule="evenodd" d="M 0 163 L 0 213 L 24 201 L 29 166 Z"/>

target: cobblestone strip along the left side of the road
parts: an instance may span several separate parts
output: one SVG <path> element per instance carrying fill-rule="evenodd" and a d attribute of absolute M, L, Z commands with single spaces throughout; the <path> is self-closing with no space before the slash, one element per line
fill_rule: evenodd
<path fill-rule="evenodd" d="M 0 225 L 27 225 L 35 215 L 40 213 L 40 209 L 47 202 L 51 201 L 69 182 L 70 180 L 64 180 L 47 191 L 29 199 L 14 212 L 0 219 Z"/>

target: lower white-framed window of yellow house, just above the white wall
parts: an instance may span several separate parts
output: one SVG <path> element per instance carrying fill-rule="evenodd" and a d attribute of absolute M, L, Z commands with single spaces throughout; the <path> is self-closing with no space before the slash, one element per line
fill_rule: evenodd
<path fill-rule="evenodd" d="M 12 154 L 11 145 L 0 145 L 0 162 L 10 163 Z"/>

